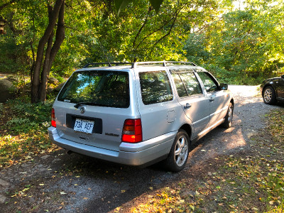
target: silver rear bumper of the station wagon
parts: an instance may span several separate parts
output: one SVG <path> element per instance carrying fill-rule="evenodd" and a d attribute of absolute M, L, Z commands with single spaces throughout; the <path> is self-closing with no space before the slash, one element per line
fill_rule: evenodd
<path fill-rule="evenodd" d="M 125 165 L 143 165 L 164 155 L 168 155 L 177 133 L 178 131 L 166 133 L 163 136 L 158 136 L 141 143 L 122 142 L 119 146 L 119 151 L 111 151 L 60 138 L 56 128 L 53 126 L 48 128 L 50 140 L 62 148 L 82 155 L 88 155 L 93 158 L 99 158 Z"/>

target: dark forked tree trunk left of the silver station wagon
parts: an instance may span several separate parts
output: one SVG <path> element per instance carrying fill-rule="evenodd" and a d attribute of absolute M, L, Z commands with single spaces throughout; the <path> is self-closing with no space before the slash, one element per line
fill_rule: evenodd
<path fill-rule="evenodd" d="M 38 43 L 38 51 L 36 54 L 35 65 L 31 73 L 31 102 L 45 102 L 46 89 L 47 89 L 47 77 L 50 72 L 51 65 L 55 59 L 55 55 L 58 53 L 60 45 L 65 38 L 64 27 L 64 9 L 65 0 L 56 0 L 55 6 L 48 6 L 49 23 L 45 29 L 43 37 Z M 53 41 L 53 29 L 55 28 L 56 21 L 58 21 L 58 27 L 56 31 L 55 42 Z M 45 50 L 45 45 L 48 43 L 48 47 Z M 52 48 L 51 48 L 52 47 Z M 43 55 L 45 52 L 45 58 Z"/>

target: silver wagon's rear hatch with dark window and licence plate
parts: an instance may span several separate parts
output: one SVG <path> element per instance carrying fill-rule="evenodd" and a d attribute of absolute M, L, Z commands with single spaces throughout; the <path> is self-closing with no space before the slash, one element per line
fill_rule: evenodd
<path fill-rule="evenodd" d="M 119 151 L 126 119 L 139 114 L 131 100 L 135 85 L 131 70 L 81 70 L 62 88 L 53 108 L 61 138 Z"/>

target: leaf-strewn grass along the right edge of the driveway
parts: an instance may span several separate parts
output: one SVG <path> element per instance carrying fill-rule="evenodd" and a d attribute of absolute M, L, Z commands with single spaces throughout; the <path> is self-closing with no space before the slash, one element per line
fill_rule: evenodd
<path fill-rule="evenodd" d="M 250 153 L 219 158 L 214 173 L 144 195 L 130 212 L 284 212 L 284 112 L 266 116 Z"/>

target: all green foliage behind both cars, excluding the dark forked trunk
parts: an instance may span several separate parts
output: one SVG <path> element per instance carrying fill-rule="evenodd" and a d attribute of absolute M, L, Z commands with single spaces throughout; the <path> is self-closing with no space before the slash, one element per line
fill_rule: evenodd
<path fill-rule="evenodd" d="M 107 58 L 187 59 L 216 70 L 222 82 L 259 84 L 283 73 L 283 11 L 280 0 L 247 1 L 239 10 L 231 0 L 66 0 L 65 40 L 50 76 L 69 77 L 78 67 Z M 47 14 L 42 1 L 29 0 L 1 11 L 8 23 L 7 34 L 0 36 L 0 72 L 30 75 Z"/>

